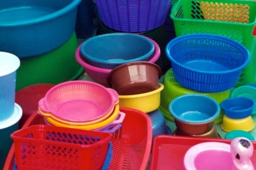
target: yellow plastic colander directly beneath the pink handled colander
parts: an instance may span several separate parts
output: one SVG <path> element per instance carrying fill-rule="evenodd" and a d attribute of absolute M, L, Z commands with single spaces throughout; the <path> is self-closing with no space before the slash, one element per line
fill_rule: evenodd
<path fill-rule="evenodd" d="M 107 126 L 107 125 L 111 124 L 116 119 L 118 114 L 119 114 L 119 105 L 115 106 L 115 110 L 109 118 L 103 120 L 102 122 L 92 124 L 92 125 L 85 125 L 85 126 L 67 125 L 67 124 L 63 124 L 63 123 L 60 123 L 60 122 L 56 122 L 56 120 L 54 120 L 51 117 L 45 117 L 45 118 L 50 124 L 52 124 L 54 126 L 65 127 L 65 128 L 73 128 L 73 129 L 93 130 L 93 129 L 99 129 L 99 128 L 102 128 L 104 126 Z"/>

